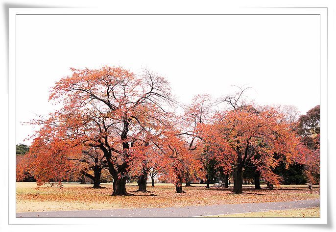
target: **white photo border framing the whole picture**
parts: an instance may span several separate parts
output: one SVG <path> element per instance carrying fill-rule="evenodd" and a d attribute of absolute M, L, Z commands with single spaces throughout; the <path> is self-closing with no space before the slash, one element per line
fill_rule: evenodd
<path fill-rule="evenodd" d="M 327 224 L 327 8 L 240 8 L 240 9 L 213 9 L 209 12 L 193 12 L 189 9 L 187 12 L 175 12 L 172 14 L 166 9 L 150 12 L 127 12 L 127 10 L 101 10 L 88 8 L 10 8 L 9 9 L 9 173 L 8 173 L 8 224 L 101 224 L 109 220 L 118 220 L 119 223 L 137 224 L 140 222 L 149 222 L 153 218 L 16 218 L 16 178 L 15 178 L 15 145 L 16 145 L 16 15 L 22 14 L 318 14 L 320 15 L 320 106 L 321 106 L 321 181 L 320 181 L 320 218 L 224 218 L 222 223 L 230 220 L 230 223 L 239 224 Z M 181 11 L 181 10 L 177 10 Z M 156 218 L 160 223 L 169 223 L 169 218 Z M 179 220 L 179 219 L 177 219 Z M 215 222 L 216 219 L 186 219 L 188 223 L 199 220 L 210 220 Z M 210 223 L 210 221 L 208 221 Z"/>

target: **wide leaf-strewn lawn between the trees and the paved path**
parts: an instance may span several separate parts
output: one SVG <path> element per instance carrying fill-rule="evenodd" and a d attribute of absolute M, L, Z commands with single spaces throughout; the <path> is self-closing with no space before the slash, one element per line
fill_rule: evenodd
<path fill-rule="evenodd" d="M 319 198 L 318 188 L 312 194 L 307 185 L 281 185 L 281 189 L 254 190 L 244 185 L 243 194 L 234 195 L 231 189 L 193 184 L 184 187 L 186 193 L 175 193 L 173 184 L 147 186 L 150 193 L 134 193 L 136 196 L 111 196 L 112 183 L 103 183 L 102 189 L 93 189 L 92 184 L 63 183 L 64 187 L 36 188 L 35 182 L 16 183 L 16 211 L 61 211 L 86 209 L 117 209 L 144 207 L 183 207 L 216 204 L 240 204 L 260 202 L 283 202 Z M 262 188 L 265 187 L 262 185 Z M 138 189 L 136 184 L 127 184 L 130 193 Z M 151 193 L 157 196 L 149 196 Z"/>

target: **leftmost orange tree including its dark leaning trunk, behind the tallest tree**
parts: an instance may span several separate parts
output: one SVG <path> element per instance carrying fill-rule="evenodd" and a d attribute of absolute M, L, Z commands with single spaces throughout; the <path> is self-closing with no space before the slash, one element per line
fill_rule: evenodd
<path fill-rule="evenodd" d="M 24 165 L 37 177 L 38 185 L 50 181 L 73 180 L 75 176 L 79 178 L 84 175 L 93 180 L 94 188 L 99 188 L 101 170 L 107 168 L 104 156 L 96 148 L 83 146 L 76 139 L 78 121 L 66 123 L 72 116 L 63 116 L 55 113 L 48 120 L 38 121 L 44 126 L 36 133 L 24 162 L 18 165 L 17 173 L 22 172 L 20 170 Z M 74 115 L 76 116 L 78 115 Z"/>

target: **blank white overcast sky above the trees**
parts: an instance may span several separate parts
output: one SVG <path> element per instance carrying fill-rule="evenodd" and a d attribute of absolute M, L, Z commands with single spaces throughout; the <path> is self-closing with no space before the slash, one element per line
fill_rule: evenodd
<path fill-rule="evenodd" d="M 247 85 L 259 104 L 319 104 L 318 15 L 18 15 L 16 30 L 17 143 L 70 67 L 147 67 L 185 103 Z"/>

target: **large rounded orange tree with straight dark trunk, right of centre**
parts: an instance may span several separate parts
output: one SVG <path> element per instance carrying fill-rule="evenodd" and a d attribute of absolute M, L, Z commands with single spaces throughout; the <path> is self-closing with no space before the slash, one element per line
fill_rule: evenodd
<path fill-rule="evenodd" d="M 279 162 L 287 165 L 304 162 L 305 147 L 300 143 L 284 115 L 271 107 L 245 105 L 218 112 L 213 122 L 202 128 L 207 148 L 220 155 L 223 167 L 234 171 L 234 193 L 242 192 L 242 171 L 247 161 L 253 163 L 262 176 L 277 184 L 272 172 Z"/>

